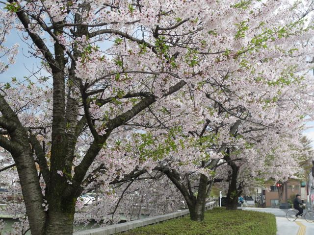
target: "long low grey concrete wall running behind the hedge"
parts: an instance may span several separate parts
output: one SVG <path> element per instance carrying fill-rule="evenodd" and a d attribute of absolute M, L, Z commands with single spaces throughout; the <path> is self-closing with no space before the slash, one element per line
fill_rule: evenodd
<path fill-rule="evenodd" d="M 205 210 L 211 210 L 214 206 L 216 206 L 216 202 L 209 202 L 205 205 Z M 183 211 L 177 211 L 170 214 L 158 215 L 150 218 L 134 220 L 131 222 L 126 222 L 122 224 L 109 225 L 103 228 L 98 229 L 90 229 L 85 231 L 76 232 L 73 235 L 113 235 L 121 232 L 126 232 L 131 229 L 145 227 L 147 225 L 159 224 L 163 221 L 167 221 L 170 219 L 178 219 L 184 216 L 189 215 L 190 212 L 188 209 Z"/>

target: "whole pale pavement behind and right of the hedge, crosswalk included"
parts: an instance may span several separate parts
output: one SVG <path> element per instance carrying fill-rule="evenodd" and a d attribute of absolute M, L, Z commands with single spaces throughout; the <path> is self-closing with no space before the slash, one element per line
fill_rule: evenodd
<path fill-rule="evenodd" d="M 247 208 L 242 210 L 262 211 L 276 215 L 277 235 L 313 235 L 314 222 L 309 223 L 304 218 L 288 221 L 286 213 L 288 210 L 276 208 Z"/>

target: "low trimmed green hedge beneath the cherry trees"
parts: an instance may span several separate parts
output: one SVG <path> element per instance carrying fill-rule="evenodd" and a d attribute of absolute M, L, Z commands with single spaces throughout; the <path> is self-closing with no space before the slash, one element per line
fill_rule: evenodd
<path fill-rule="evenodd" d="M 276 235 L 276 232 L 273 214 L 214 208 L 205 212 L 204 221 L 192 221 L 187 216 L 133 229 L 121 235 Z"/>

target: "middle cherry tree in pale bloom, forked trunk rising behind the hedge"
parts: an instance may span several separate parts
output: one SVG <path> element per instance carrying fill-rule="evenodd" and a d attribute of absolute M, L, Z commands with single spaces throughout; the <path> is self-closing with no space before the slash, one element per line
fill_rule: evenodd
<path fill-rule="evenodd" d="M 155 110 L 152 112 L 152 116 L 156 118 L 156 123 L 158 124 L 152 124 L 151 122 L 148 122 L 148 125 L 145 125 L 145 123 L 141 124 L 147 128 L 154 128 L 154 126 L 159 127 L 159 125 L 162 125 L 165 129 L 170 129 L 172 126 L 180 125 L 181 127 L 184 127 L 183 129 L 186 130 L 186 133 L 194 136 L 194 138 L 197 139 L 202 138 L 204 133 L 209 132 L 210 135 L 207 136 L 207 138 L 210 138 L 211 141 L 214 139 L 213 136 L 217 138 L 217 133 L 219 133 L 220 138 L 218 137 L 218 140 L 220 140 L 218 143 L 213 141 L 208 143 L 209 149 L 212 149 L 210 152 L 210 154 L 212 154 L 211 157 L 209 156 L 210 154 L 208 154 L 207 157 L 204 155 L 202 156 L 204 152 L 202 152 L 199 148 L 193 151 L 189 150 L 189 152 L 184 155 L 183 149 L 178 147 L 180 150 L 178 150 L 177 153 L 171 153 L 169 158 L 163 158 L 163 161 L 159 163 L 159 166 L 156 164 L 157 166 L 155 169 L 159 169 L 160 171 L 164 172 L 182 192 L 190 209 L 192 219 L 202 220 L 202 216 L 204 215 L 206 195 L 208 195 L 210 192 L 210 183 L 214 182 L 209 181 L 211 176 L 210 171 L 219 165 L 221 159 L 224 159 L 226 163 L 228 162 L 230 166 L 233 165 L 235 168 L 238 167 L 233 163 L 234 161 L 238 161 L 238 159 L 229 159 L 229 154 L 226 154 L 228 147 L 231 148 L 235 144 L 240 145 L 239 143 L 241 143 L 242 146 L 237 148 L 237 151 L 240 151 L 239 149 L 245 149 L 247 144 L 254 145 L 257 144 L 258 141 L 261 141 L 261 138 L 266 138 L 267 141 L 274 141 L 274 143 L 277 143 L 278 145 L 273 146 L 272 144 L 270 145 L 267 143 L 267 141 L 263 141 L 266 146 L 272 146 L 271 148 L 267 149 L 269 152 L 269 158 L 263 158 L 263 161 L 261 160 L 258 164 L 259 167 L 252 168 L 252 163 L 256 159 L 254 156 L 247 156 L 245 161 L 251 164 L 247 164 L 245 171 L 247 172 L 248 169 L 251 168 L 255 169 L 256 172 L 260 172 L 262 169 L 267 168 L 268 177 L 275 176 L 276 178 L 285 178 L 287 175 L 289 175 L 289 173 L 295 172 L 296 165 L 288 165 L 287 163 L 290 162 L 290 155 L 295 154 L 296 150 L 294 147 L 294 151 L 288 151 L 288 148 L 299 145 L 299 141 L 295 137 L 299 136 L 299 126 L 302 125 L 302 115 L 309 112 L 308 101 L 305 100 L 309 97 L 306 97 L 304 94 L 311 93 L 312 86 L 309 85 L 306 87 L 306 84 L 311 83 L 310 81 L 312 80 L 312 77 L 306 75 L 310 67 L 306 62 L 307 56 L 305 55 L 305 48 L 299 41 L 300 38 L 294 37 L 294 33 L 290 34 L 289 36 L 291 36 L 289 37 L 290 40 L 296 40 L 290 45 L 293 45 L 294 47 L 292 50 L 298 48 L 296 49 L 298 50 L 296 53 L 299 56 L 298 59 L 293 56 L 292 59 L 292 57 L 288 55 L 290 52 L 292 52 L 290 49 L 290 52 L 287 53 L 286 51 L 280 56 L 277 54 L 278 51 L 275 54 L 269 55 L 268 53 L 270 52 L 270 47 L 267 45 L 268 49 L 265 52 L 266 54 L 262 54 L 261 51 L 259 51 L 259 55 L 261 55 L 263 59 L 261 58 L 261 60 L 259 59 L 256 61 L 256 63 L 254 63 L 253 61 L 256 59 L 256 57 L 254 57 L 254 59 L 248 63 L 250 66 L 245 66 L 247 71 L 243 71 L 242 69 L 229 71 L 223 67 L 223 69 L 219 70 L 219 73 L 217 73 L 216 77 L 211 77 L 210 80 L 202 83 L 202 86 L 200 86 L 201 88 L 190 88 L 189 94 L 193 94 L 194 99 L 191 101 L 193 104 L 189 106 L 202 108 L 199 108 L 199 114 L 195 113 L 195 110 L 194 112 L 189 110 L 185 113 L 185 115 L 192 113 L 193 117 L 190 115 L 188 116 L 189 118 L 200 118 L 199 121 L 194 121 L 194 123 L 201 123 L 201 125 L 198 126 L 199 131 L 197 131 L 197 124 L 195 124 L 195 126 L 191 126 L 190 123 L 180 125 L 178 124 L 180 121 L 176 120 L 176 123 L 172 120 L 173 118 L 171 118 L 172 121 L 169 119 L 166 121 L 163 120 L 163 122 L 161 122 L 159 117 L 162 115 L 158 113 L 160 110 Z M 285 38 L 285 40 L 287 40 L 287 38 Z M 273 48 L 277 46 L 278 44 L 274 43 Z M 296 54 L 294 56 L 296 56 Z M 246 56 L 249 57 L 248 55 Z M 285 62 L 283 60 L 284 57 L 287 59 Z M 283 62 L 284 64 L 282 64 Z M 231 64 L 230 61 L 228 61 L 228 63 L 228 65 Z M 230 69 L 230 67 L 228 67 L 228 69 Z M 262 75 L 262 77 L 260 77 L 260 75 Z M 244 79 L 241 79 L 243 77 Z M 304 88 L 305 90 L 300 90 L 300 87 Z M 204 91 L 208 100 L 205 98 L 195 98 L 198 94 L 204 94 Z M 184 104 L 186 104 L 186 102 L 188 101 L 184 100 Z M 164 112 L 164 110 L 161 111 Z M 207 111 L 209 112 L 206 113 Z M 177 117 L 179 117 L 179 114 L 182 113 L 177 113 Z M 228 116 L 231 116 L 232 118 L 229 118 Z M 216 120 L 216 118 L 220 119 Z M 201 121 L 202 119 L 203 121 Z M 145 120 L 147 120 L 147 118 Z M 215 122 L 216 124 L 212 124 Z M 217 123 L 221 125 L 220 129 L 217 128 L 217 126 L 219 126 Z M 254 136 L 246 137 L 247 133 L 254 133 L 256 131 L 263 131 L 262 133 L 258 132 L 257 135 L 259 138 Z M 215 135 L 213 135 L 213 133 L 215 133 Z M 246 135 L 244 135 L 244 133 Z M 155 137 L 152 138 L 151 135 Z M 145 136 L 145 138 L 148 138 L 150 141 L 154 141 L 154 139 L 157 140 L 157 138 L 160 138 L 160 135 L 162 135 L 162 133 L 158 133 L 156 135 L 149 133 L 147 136 Z M 168 134 L 165 135 L 167 136 Z M 245 138 L 242 138 L 242 135 L 244 135 Z M 278 140 L 270 140 L 268 137 L 269 135 L 277 137 Z M 239 136 L 244 141 L 240 141 L 238 143 L 239 140 L 235 138 L 236 136 Z M 247 142 L 247 138 L 252 140 L 255 139 L 255 142 Z M 281 140 L 281 138 L 283 138 L 282 140 L 285 140 L 286 142 L 280 144 L 278 141 Z M 143 139 L 142 141 L 147 141 L 147 139 Z M 200 142 L 204 145 L 204 142 Z M 160 150 L 158 143 L 159 141 L 155 143 L 153 150 L 144 149 L 144 155 L 147 154 L 148 156 L 155 156 L 156 153 L 160 154 L 157 151 L 158 149 Z M 171 146 L 180 145 L 182 145 L 182 139 L 174 140 L 171 144 Z M 134 146 L 134 144 L 132 146 Z M 260 145 L 257 146 L 260 147 Z M 276 155 L 278 156 L 274 158 L 273 151 L 276 151 L 276 149 L 280 148 L 286 150 L 281 152 L 277 150 L 278 152 L 276 152 Z M 177 151 L 176 148 L 174 149 Z M 143 151 L 143 149 L 137 149 L 137 151 L 139 154 L 142 154 L 141 151 Z M 162 154 L 165 153 L 162 152 Z M 222 155 L 219 157 L 219 154 Z M 206 161 L 204 161 L 204 159 L 206 159 Z M 201 163 L 197 164 L 197 161 L 201 161 Z M 270 164 L 270 161 L 274 161 L 273 164 Z M 276 161 L 279 161 L 280 164 L 277 164 Z M 183 167 L 183 165 L 186 167 Z M 269 166 L 266 167 L 267 165 Z M 272 167 L 270 167 L 270 165 Z M 256 175 L 256 172 L 253 170 L 253 173 L 251 171 L 246 173 L 246 179 L 248 180 L 250 177 L 252 177 L 253 174 Z M 277 172 L 277 174 L 275 174 L 275 172 Z M 199 175 L 199 177 L 193 177 L 194 179 L 198 179 L 198 184 L 196 183 L 197 186 L 192 186 L 189 179 L 186 179 L 186 176 L 189 177 L 194 173 Z M 261 177 L 263 178 L 266 176 L 264 174 Z M 236 186 L 237 178 L 235 177 L 234 180 L 235 183 L 232 185 Z M 198 189 L 192 190 L 193 188 Z M 234 193 L 235 195 L 231 195 L 231 193 L 234 191 L 235 190 L 231 190 L 229 195 L 230 198 L 232 196 L 233 201 L 237 199 L 236 195 L 240 193 L 240 190 L 238 190 L 236 193 Z M 233 205 L 236 204 L 233 203 Z"/>

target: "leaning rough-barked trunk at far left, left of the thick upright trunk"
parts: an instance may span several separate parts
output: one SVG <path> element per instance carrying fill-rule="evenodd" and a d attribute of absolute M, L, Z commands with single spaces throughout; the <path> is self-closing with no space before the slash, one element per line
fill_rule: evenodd
<path fill-rule="evenodd" d="M 0 145 L 11 153 L 16 164 L 32 235 L 41 235 L 47 215 L 42 206 L 44 198 L 27 135 L 18 117 L 1 94 L 0 112 L 3 118 L 14 123 L 14 125 L 7 126 L 10 140 L 0 135 Z"/>

